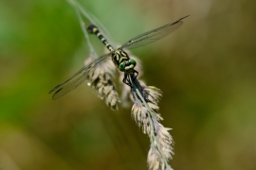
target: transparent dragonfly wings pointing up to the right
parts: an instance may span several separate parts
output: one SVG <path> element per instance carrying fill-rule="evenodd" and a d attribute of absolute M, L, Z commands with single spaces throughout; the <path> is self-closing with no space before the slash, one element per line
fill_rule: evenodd
<path fill-rule="evenodd" d="M 163 37 L 167 36 L 168 34 L 174 32 L 179 26 L 182 25 L 182 21 L 184 18 L 187 18 L 188 16 L 185 16 L 183 18 L 180 18 L 179 20 L 175 21 L 174 23 L 170 23 L 165 26 L 160 26 L 156 29 L 153 29 L 151 31 L 145 32 L 143 34 L 138 35 L 134 39 L 131 39 L 128 42 L 125 42 L 119 49 L 126 48 L 126 49 L 132 49 L 137 48 L 139 46 L 147 45 L 149 43 L 155 42 L 157 40 L 162 39 Z"/>

